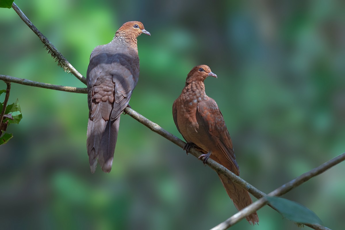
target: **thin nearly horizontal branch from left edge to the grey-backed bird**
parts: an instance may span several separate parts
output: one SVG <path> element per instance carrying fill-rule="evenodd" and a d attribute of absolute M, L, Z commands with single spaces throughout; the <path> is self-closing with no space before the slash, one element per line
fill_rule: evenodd
<path fill-rule="evenodd" d="M 7 76 L 7 75 L 1 75 L 1 74 L 0 74 L 0 80 L 3 80 L 4 82 L 14 82 L 14 83 L 23 84 L 26 86 L 34 86 L 34 87 L 40 87 L 40 88 L 45 88 L 45 89 L 60 90 L 60 91 L 65 91 L 65 92 L 87 93 L 86 88 L 59 86 L 59 85 L 55 85 L 55 84 L 48 84 L 48 83 L 42 83 L 42 82 L 37 82 L 37 81 L 31 81 L 28 79 L 15 78 L 15 77 Z"/>

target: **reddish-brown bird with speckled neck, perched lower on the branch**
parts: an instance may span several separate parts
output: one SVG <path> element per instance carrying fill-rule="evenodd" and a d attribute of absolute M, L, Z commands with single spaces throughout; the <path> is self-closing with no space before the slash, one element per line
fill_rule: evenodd
<path fill-rule="evenodd" d="M 216 101 L 205 93 L 204 80 L 208 76 L 217 78 L 206 65 L 190 70 L 181 95 L 172 105 L 172 116 L 177 130 L 187 142 L 184 147 L 187 154 L 191 147 L 197 147 L 204 153 L 199 157 L 204 164 L 211 158 L 239 176 L 239 166 L 223 115 Z M 219 173 L 218 176 L 238 210 L 252 203 L 245 189 Z M 259 222 L 256 212 L 246 219 L 253 225 Z"/>

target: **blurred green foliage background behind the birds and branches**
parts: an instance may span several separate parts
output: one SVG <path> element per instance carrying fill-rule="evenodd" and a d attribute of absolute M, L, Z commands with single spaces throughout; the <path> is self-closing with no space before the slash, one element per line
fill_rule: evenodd
<path fill-rule="evenodd" d="M 345 150 L 344 1 L 16 3 L 84 76 L 93 48 L 126 21 L 144 23 L 152 36 L 138 38 L 130 105 L 180 138 L 172 103 L 190 69 L 207 64 L 218 79 L 206 79 L 206 93 L 223 113 L 241 177 L 263 192 Z M 0 74 L 85 87 L 13 9 L 0 9 Z M 112 171 L 91 174 L 86 94 L 12 83 L 9 102 L 17 98 L 23 119 L 0 147 L 2 227 L 210 229 L 236 213 L 214 171 L 129 116 L 121 116 Z M 283 197 L 342 229 L 344 172 L 341 163 Z M 259 226 L 242 220 L 231 229 L 299 229 L 267 206 L 258 215 Z"/>

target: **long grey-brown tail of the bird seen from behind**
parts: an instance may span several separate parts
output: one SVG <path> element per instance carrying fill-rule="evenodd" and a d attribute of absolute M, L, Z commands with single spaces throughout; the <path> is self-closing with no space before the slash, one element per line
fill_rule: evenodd
<path fill-rule="evenodd" d="M 91 121 L 89 119 L 86 145 L 91 173 L 95 172 L 97 162 L 99 162 L 103 172 L 110 172 L 119 124 L 120 117 L 112 121 L 103 119 Z"/>

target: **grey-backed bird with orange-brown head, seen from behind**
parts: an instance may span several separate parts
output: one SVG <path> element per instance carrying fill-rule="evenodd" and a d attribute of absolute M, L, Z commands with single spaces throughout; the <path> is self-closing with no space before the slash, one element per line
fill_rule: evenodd
<path fill-rule="evenodd" d="M 119 131 L 120 115 L 139 78 L 137 37 L 145 33 L 139 21 L 124 23 L 111 42 L 92 50 L 86 73 L 89 120 L 87 126 L 87 153 L 90 170 L 97 163 L 109 173 Z"/>

